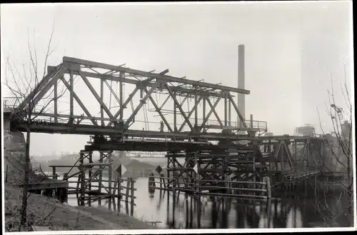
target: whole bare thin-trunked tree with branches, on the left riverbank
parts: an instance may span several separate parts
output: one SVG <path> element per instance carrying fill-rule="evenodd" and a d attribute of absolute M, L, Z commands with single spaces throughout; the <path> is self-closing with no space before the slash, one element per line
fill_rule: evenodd
<path fill-rule="evenodd" d="M 49 38 L 49 44 L 44 51 L 44 67 L 41 72 L 41 66 L 38 61 L 38 51 L 36 45 L 33 47 L 30 44 L 28 36 L 28 48 L 29 48 L 29 61 L 28 64 L 16 65 L 10 61 L 9 55 L 6 55 L 6 69 L 5 69 L 5 86 L 14 97 L 11 99 L 4 98 L 4 106 L 10 110 L 11 120 L 20 122 L 23 124 L 26 130 L 26 148 L 25 148 L 25 174 L 24 174 L 24 188 L 21 204 L 21 223 L 19 230 L 26 225 L 26 207 L 29 191 L 29 171 L 30 171 L 30 140 L 31 140 L 31 126 L 36 122 L 38 123 L 38 117 L 41 114 L 49 111 L 52 108 L 51 103 L 54 99 L 59 99 L 64 95 L 65 89 L 63 88 L 59 94 L 54 96 L 54 90 L 49 94 L 44 94 L 39 102 L 38 94 L 41 93 L 42 78 L 46 75 L 46 66 L 49 61 L 49 57 L 53 53 L 54 48 L 51 48 L 52 39 L 54 35 L 54 26 L 52 27 L 51 36 Z M 58 82 L 58 81 L 57 81 Z M 12 101 L 11 101 L 12 100 Z M 10 101 L 7 102 L 6 101 Z M 39 104 L 41 103 L 41 104 Z M 44 123 L 46 120 L 42 120 Z"/>

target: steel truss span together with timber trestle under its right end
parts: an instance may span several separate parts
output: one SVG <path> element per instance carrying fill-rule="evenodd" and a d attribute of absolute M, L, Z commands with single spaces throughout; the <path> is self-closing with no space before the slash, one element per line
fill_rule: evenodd
<path fill-rule="evenodd" d="M 101 160 L 113 151 L 165 151 L 169 177 L 268 176 L 277 186 L 323 164 L 323 139 L 263 136 L 266 121 L 244 119 L 236 97 L 246 89 L 66 56 L 47 71 L 26 96 L 4 98 L 5 123 L 11 131 L 92 136 L 82 163 L 93 151 Z"/>

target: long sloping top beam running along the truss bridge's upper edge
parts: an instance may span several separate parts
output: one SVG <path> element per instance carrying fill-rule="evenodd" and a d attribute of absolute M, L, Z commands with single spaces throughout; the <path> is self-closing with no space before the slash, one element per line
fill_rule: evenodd
<path fill-rule="evenodd" d="M 81 64 L 84 66 L 91 66 L 91 67 L 96 67 L 96 68 L 101 68 L 101 69 L 109 69 L 109 70 L 114 70 L 114 71 L 121 71 L 124 73 L 128 73 L 128 74 L 134 74 L 137 76 L 145 76 L 145 77 L 151 77 L 151 78 L 156 78 L 156 79 L 161 79 L 164 80 L 166 82 L 178 82 L 178 83 L 183 83 L 183 84 L 189 84 L 192 86 L 201 86 L 201 87 L 207 87 L 207 88 L 211 88 L 211 89 L 218 89 L 221 91 L 231 91 L 231 92 L 236 92 L 236 93 L 241 93 L 241 94 L 250 94 L 250 91 L 245 90 L 245 89 L 238 89 L 238 88 L 234 88 L 234 87 L 230 87 L 230 86 L 220 86 L 220 85 L 216 85 L 216 84 L 209 84 L 206 82 L 202 82 L 202 81 L 193 81 L 193 80 L 188 80 L 188 79 L 181 79 L 178 77 L 174 77 L 174 76 L 168 76 L 168 75 L 163 75 L 163 74 L 155 74 L 155 73 L 149 73 L 146 71 L 140 71 L 137 69 L 129 69 L 129 68 L 125 68 L 122 66 L 114 66 L 111 64 L 103 64 L 103 63 L 99 63 L 99 62 L 94 62 L 94 61 L 87 61 L 84 59 L 76 59 L 73 57 L 67 57 L 64 56 L 63 58 L 64 62 L 69 62 L 69 63 L 74 63 L 74 64 Z"/>

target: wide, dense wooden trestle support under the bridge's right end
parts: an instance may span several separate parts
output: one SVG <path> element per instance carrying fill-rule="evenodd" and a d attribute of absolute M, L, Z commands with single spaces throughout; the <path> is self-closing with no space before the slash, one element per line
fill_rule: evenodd
<path fill-rule="evenodd" d="M 269 198 L 271 189 L 293 189 L 299 181 L 320 174 L 323 144 L 321 139 L 291 136 L 168 152 L 166 188 Z M 183 165 L 178 158 L 185 158 Z"/>

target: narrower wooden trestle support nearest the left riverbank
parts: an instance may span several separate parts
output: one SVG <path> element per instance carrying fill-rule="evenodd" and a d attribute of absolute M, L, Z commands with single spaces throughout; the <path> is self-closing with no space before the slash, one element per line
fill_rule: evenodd
<path fill-rule="evenodd" d="M 109 209 L 113 204 L 114 209 L 120 209 L 120 201 L 131 204 L 131 214 L 134 213 L 134 183 L 131 178 L 123 179 L 119 174 L 121 171 L 113 169 L 113 151 L 99 151 L 99 160 L 93 161 L 93 151 L 80 151 L 79 159 L 74 166 L 51 166 L 54 175 L 56 168 L 71 167 L 71 169 L 64 174 L 64 181 L 69 183 L 76 183 L 75 187 L 69 187 L 69 194 L 76 194 L 80 206 L 98 201 L 101 206 L 101 200 L 106 199 Z M 78 169 L 79 171 L 76 171 Z M 73 172 L 72 172 L 73 171 Z M 104 171 L 107 176 L 104 177 Z M 76 181 L 71 181 L 77 177 Z M 107 179 L 104 179 L 107 178 Z M 122 185 L 122 183 L 126 185 Z M 117 200 L 115 200 L 117 199 Z M 129 212 L 127 212 L 129 214 Z"/>

